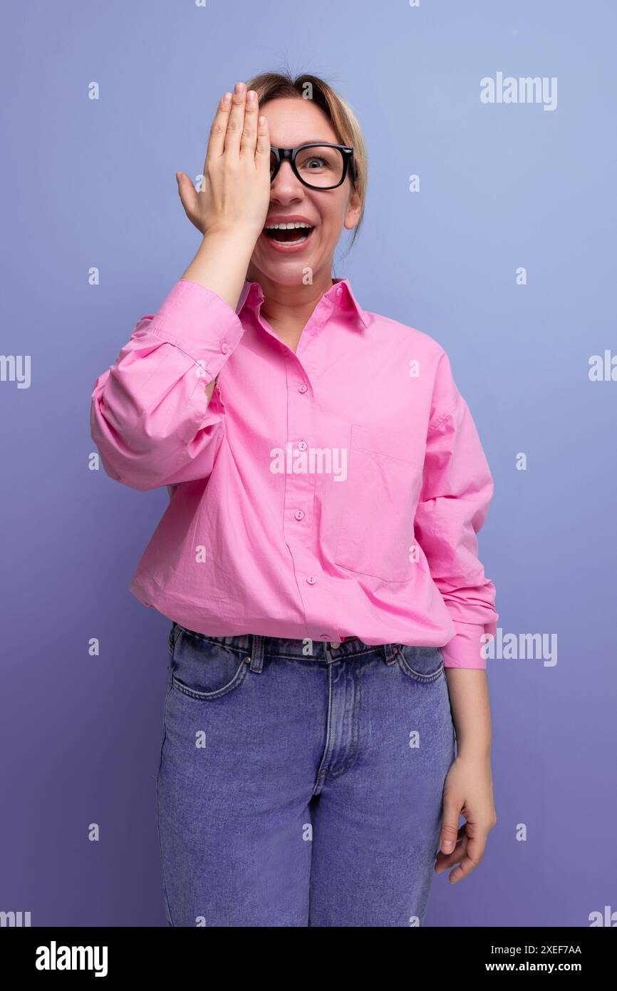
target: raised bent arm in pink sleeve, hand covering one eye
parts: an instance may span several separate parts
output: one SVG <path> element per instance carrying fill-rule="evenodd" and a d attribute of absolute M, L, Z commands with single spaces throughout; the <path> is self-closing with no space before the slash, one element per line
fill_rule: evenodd
<path fill-rule="evenodd" d="M 137 323 L 96 380 L 90 425 L 107 474 L 145 491 L 207 478 L 223 439 L 210 404 L 216 377 L 244 328 L 236 313 L 269 204 L 267 124 L 246 87 L 221 101 L 210 132 L 205 188 L 177 173 L 178 192 L 203 240 L 154 315 Z"/>

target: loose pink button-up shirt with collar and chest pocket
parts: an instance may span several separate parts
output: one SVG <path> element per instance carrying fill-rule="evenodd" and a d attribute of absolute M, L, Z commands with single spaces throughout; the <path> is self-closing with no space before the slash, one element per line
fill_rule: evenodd
<path fill-rule="evenodd" d="M 433 338 L 334 283 L 294 353 L 258 282 L 234 310 L 181 278 L 96 380 L 105 471 L 170 495 L 129 589 L 213 636 L 356 635 L 485 668 L 493 482 L 471 414 Z"/>

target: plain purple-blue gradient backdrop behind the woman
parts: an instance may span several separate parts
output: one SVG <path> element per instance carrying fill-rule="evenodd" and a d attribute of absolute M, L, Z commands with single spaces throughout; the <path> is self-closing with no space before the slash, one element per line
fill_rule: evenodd
<path fill-rule="evenodd" d="M 175 170 L 202 170 L 226 89 L 285 61 L 364 129 L 365 227 L 334 274 L 445 347 L 474 416 L 498 625 L 558 635 L 554 667 L 488 662 L 499 822 L 467 880 L 436 878 L 426 924 L 580 927 L 617 909 L 617 382 L 588 379 L 617 346 L 615 5 L 38 0 L 4 27 L 0 352 L 31 355 L 32 384 L 0 383 L 0 910 L 164 926 L 169 622 L 128 584 L 167 493 L 88 469 L 90 392 L 196 251 Z M 557 109 L 480 103 L 498 71 L 557 76 Z"/>

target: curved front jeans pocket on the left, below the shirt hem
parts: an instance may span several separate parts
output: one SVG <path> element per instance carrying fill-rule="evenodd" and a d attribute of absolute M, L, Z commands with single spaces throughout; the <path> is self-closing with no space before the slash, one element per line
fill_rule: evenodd
<path fill-rule="evenodd" d="M 243 650 L 223 646 L 179 626 L 171 660 L 171 684 L 190 699 L 210 702 L 240 688 L 250 661 Z"/>

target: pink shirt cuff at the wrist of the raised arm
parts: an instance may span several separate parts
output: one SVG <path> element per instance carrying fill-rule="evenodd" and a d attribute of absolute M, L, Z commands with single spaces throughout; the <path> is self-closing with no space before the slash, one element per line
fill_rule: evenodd
<path fill-rule="evenodd" d="M 235 351 L 245 328 L 217 292 L 180 278 L 155 313 L 149 331 L 199 364 L 208 385 Z"/>

